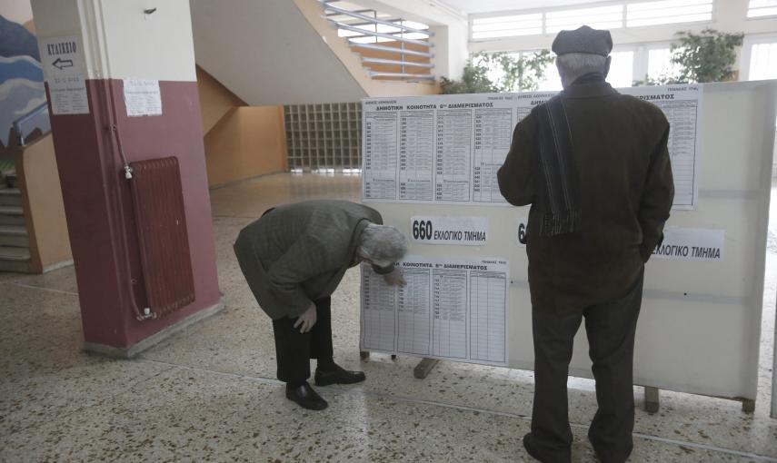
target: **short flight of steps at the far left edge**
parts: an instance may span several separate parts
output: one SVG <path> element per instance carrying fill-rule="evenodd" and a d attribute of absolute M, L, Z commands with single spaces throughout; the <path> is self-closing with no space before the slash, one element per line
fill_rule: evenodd
<path fill-rule="evenodd" d="M 22 193 L 0 189 L 0 271 L 30 272 L 29 246 Z"/>

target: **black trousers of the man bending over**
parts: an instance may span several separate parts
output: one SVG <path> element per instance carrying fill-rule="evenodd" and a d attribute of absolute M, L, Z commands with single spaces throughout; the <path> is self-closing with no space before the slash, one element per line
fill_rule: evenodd
<path fill-rule="evenodd" d="M 273 320 L 278 379 L 301 384 L 310 378 L 311 359 L 317 359 L 319 365 L 333 362 L 331 303 L 332 298 L 314 300 L 316 321 L 306 333 L 294 328 L 295 318 Z"/>

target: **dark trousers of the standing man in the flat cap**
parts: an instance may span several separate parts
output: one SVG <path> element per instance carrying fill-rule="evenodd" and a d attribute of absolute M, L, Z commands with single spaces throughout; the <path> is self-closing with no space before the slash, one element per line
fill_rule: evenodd
<path fill-rule="evenodd" d="M 567 376 L 573 338 L 585 317 L 599 409 L 588 438 L 603 463 L 624 461 L 632 452 L 634 428 L 634 333 L 643 299 L 640 274 L 622 299 L 559 316 L 533 310 L 534 405 L 532 436 L 547 461 L 570 461 L 572 429 L 567 414 Z"/>

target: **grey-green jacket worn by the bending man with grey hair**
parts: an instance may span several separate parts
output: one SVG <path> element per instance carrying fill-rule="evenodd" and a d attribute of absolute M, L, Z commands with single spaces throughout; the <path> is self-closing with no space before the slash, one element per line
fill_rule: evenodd
<path fill-rule="evenodd" d="M 381 214 L 355 202 L 319 200 L 278 206 L 247 225 L 234 243 L 245 280 L 273 320 L 296 318 L 332 295 L 356 255 L 364 228 Z M 393 270 L 375 268 L 379 273 Z"/>

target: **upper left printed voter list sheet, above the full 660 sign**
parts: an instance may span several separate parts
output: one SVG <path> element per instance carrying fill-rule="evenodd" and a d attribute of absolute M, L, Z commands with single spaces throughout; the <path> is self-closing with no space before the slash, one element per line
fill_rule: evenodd
<path fill-rule="evenodd" d="M 496 172 L 518 123 L 512 94 L 365 98 L 364 202 L 509 206 Z"/>

